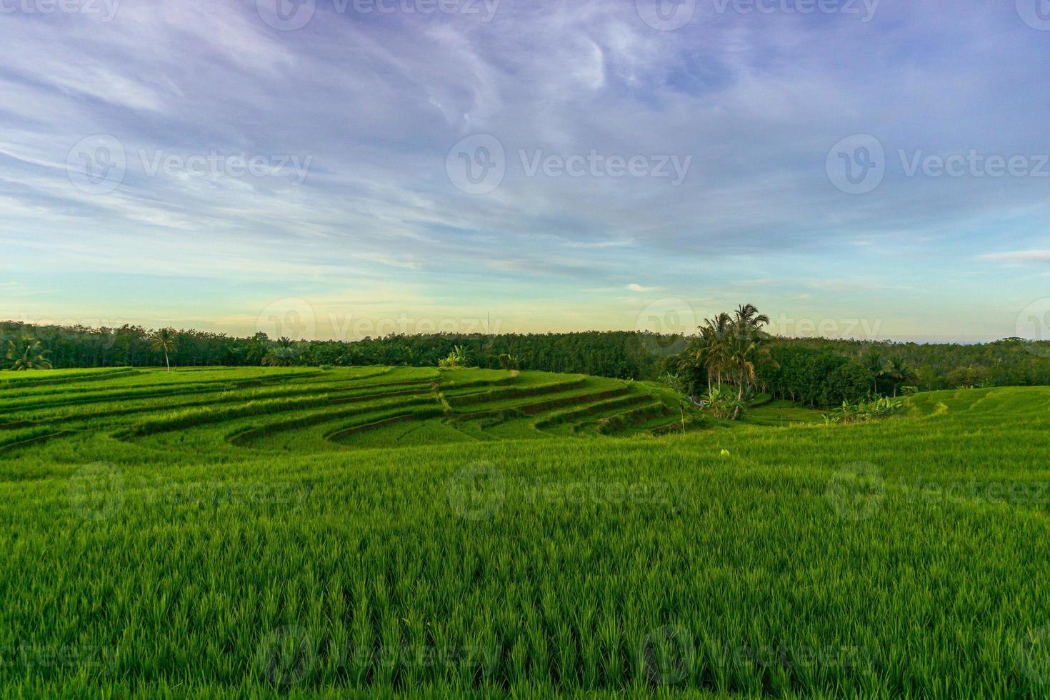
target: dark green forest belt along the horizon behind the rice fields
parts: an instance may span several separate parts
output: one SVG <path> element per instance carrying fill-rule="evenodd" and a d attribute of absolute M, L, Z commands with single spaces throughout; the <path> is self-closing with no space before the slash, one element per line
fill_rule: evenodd
<path fill-rule="evenodd" d="M 728 315 L 723 315 L 727 316 Z M 1050 385 L 1050 343 L 1008 338 L 985 344 L 863 342 L 760 334 L 756 390 L 816 406 L 963 386 Z M 702 328 L 701 328 L 702 331 Z M 758 338 L 759 336 L 756 336 Z M 616 332 L 388 335 L 355 342 L 293 342 L 265 334 L 235 338 L 138 325 L 117 328 L 0 323 L 12 368 L 202 365 L 435 366 L 449 356 L 480 367 L 664 380 L 692 396 L 710 388 L 704 334 Z M 734 384 L 732 377 L 723 378 Z M 738 383 L 738 382 L 737 382 Z"/>

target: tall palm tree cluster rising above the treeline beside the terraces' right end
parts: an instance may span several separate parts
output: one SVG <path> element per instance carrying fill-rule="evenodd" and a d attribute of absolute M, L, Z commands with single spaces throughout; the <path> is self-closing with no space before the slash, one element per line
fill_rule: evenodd
<path fill-rule="evenodd" d="M 733 420 L 740 417 L 744 391 L 755 385 L 755 369 L 773 362 L 770 356 L 770 335 L 762 326 L 770 317 L 759 314 L 752 304 L 742 304 L 732 314 L 722 312 L 704 320 L 692 358 L 704 365 L 708 374 L 708 394 L 714 396 L 715 383 L 721 394 L 722 382 L 736 387 Z"/>

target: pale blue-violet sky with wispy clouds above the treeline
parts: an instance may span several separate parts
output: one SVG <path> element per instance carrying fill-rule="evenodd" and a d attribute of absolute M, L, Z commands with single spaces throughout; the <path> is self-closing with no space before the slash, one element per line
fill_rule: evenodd
<path fill-rule="evenodd" d="M 1047 0 L 0 0 L 0 318 L 1050 338 Z"/>

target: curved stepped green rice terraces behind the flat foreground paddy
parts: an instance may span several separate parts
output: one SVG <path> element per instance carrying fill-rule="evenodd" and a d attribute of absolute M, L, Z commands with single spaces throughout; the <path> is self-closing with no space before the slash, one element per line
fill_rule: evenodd
<path fill-rule="evenodd" d="M 684 419 L 679 399 L 664 387 L 576 375 L 118 369 L 69 373 L 58 384 L 50 375 L 63 373 L 3 384 L 0 449 L 99 431 L 145 447 L 302 452 L 635 434 L 680 428 Z"/>

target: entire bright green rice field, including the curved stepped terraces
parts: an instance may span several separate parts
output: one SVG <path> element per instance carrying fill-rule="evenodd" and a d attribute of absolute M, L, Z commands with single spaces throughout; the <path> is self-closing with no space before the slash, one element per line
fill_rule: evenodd
<path fill-rule="evenodd" d="M 0 374 L 0 692 L 1050 694 L 1050 389 L 766 410 L 681 434 L 660 387 L 580 376 Z"/>

